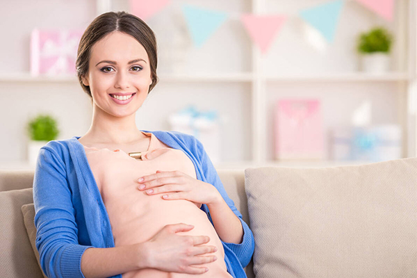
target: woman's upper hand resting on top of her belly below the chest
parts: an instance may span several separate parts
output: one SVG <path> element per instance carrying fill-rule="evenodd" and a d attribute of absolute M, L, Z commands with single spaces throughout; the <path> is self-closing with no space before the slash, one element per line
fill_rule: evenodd
<path fill-rule="evenodd" d="M 181 171 L 156 171 L 142 177 L 138 188 L 148 195 L 161 194 L 163 199 L 187 199 L 200 204 L 215 204 L 222 197 L 210 183 L 199 181 Z M 141 188 L 142 186 L 142 188 Z"/>

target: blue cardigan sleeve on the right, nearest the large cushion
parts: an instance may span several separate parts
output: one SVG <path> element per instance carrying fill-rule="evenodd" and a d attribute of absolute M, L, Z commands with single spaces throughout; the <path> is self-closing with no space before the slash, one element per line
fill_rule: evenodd
<path fill-rule="evenodd" d="M 255 240 L 254 235 L 252 234 L 252 231 L 250 230 L 250 227 L 246 224 L 245 221 L 243 221 L 242 214 L 236 206 L 234 205 L 234 202 L 232 199 L 229 198 L 229 196 L 226 193 L 226 190 L 224 189 L 223 183 L 220 180 L 220 177 L 215 170 L 215 167 L 213 163 L 211 162 L 211 159 L 208 157 L 208 154 L 204 150 L 204 147 L 202 145 L 202 142 L 199 142 L 199 140 L 196 138 L 196 144 L 197 149 L 199 151 L 199 160 L 201 161 L 201 167 L 202 171 L 204 173 L 204 177 L 206 178 L 206 182 L 212 184 L 215 186 L 215 188 L 218 189 L 220 195 L 222 195 L 224 201 L 229 205 L 229 208 L 231 211 L 234 212 L 234 214 L 239 218 L 240 223 L 242 224 L 243 228 L 243 240 L 241 243 L 224 243 L 227 247 L 230 248 L 234 254 L 236 254 L 240 264 L 243 268 L 247 266 L 248 263 L 250 263 L 250 260 L 252 259 L 252 255 L 254 254 L 254 247 L 255 247 Z M 210 215 L 208 215 L 209 218 L 211 218 Z"/>

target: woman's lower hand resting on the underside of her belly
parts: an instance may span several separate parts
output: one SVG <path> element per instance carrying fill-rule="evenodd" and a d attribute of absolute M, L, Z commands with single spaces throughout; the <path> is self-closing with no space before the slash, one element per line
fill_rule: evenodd
<path fill-rule="evenodd" d="M 184 223 L 165 225 L 154 237 L 145 242 L 147 267 L 187 274 L 206 272 L 206 267 L 198 265 L 211 263 L 217 259 L 216 256 L 200 256 L 217 251 L 215 246 L 202 245 L 208 243 L 210 238 L 208 236 L 180 236 L 176 234 L 180 231 L 190 231 L 193 228 L 193 225 Z"/>

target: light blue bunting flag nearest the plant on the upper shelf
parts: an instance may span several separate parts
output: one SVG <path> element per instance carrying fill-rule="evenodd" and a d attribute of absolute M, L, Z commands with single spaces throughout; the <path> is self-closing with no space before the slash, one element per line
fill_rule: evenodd
<path fill-rule="evenodd" d="M 314 28 L 318 29 L 328 42 L 333 42 L 342 6 L 343 0 L 331 1 L 314 8 L 302 10 L 300 16 Z"/>

